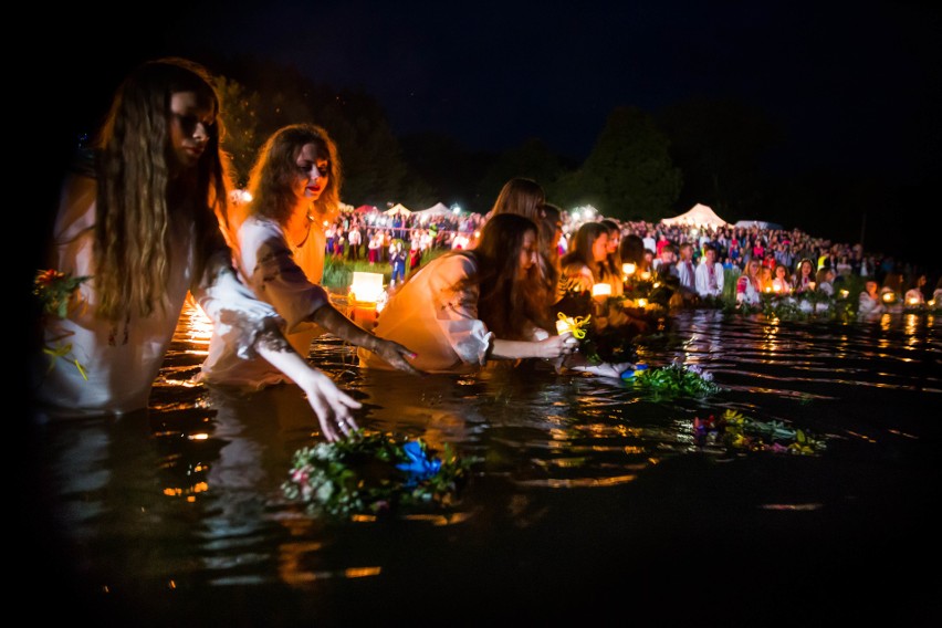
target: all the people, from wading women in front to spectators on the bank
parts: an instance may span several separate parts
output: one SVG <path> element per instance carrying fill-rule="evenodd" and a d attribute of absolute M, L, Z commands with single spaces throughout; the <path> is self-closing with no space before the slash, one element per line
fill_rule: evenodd
<path fill-rule="evenodd" d="M 182 59 L 143 64 L 114 95 L 92 154 L 66 178 L 50 242 L 50 269 L 90 281 L 62 316 L 43 318 L 40 348 L 55 350 L 34 360 L 39 418 L 145 409 L 188 294 L 213 325 L 198 381 L 249 394 L 296 386 L 336 440 L 357 429 L 360 404 L 308 359 L 325 332 L 358 347 L 364 368 L 420 376 L 527 363 L 619 377 L 631 364 L 588 359 L 576 333 L 579 322 L 626 339 L 646 329 L 610 299 L 625 291 L 626 263 L 676 281 L 680 304 L 719 299 L 730 269 L 742 273 L 743 300 L 849 275 L 867 278 L 868 295 L 889 282 L 927 290 L 924 274 L 892 258 L 798 230 L 576 220 L 521 177 L 486 214 L 342 212 L 338 150 L 314 124 L 272 134 L 249 200 L 232 202 L 223 115 L 209 72 Z M 422 264 L 433 249 L 446 251 Z M 391 264 L 375 328 L 331 303 L 327 257 Z M 66 354 L 74 368 L 56 367 Z"/>

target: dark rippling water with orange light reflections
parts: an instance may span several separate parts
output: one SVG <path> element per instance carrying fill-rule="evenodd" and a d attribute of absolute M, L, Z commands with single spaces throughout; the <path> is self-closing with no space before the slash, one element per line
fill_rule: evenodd
<path fill-rule="evenodd" d="M 542 369 L 362 371 L 327 337 L 312 357 L 362 427 L 483 459 L 448 516 L 336 523 L 281 492 L 316 441 L 306 404 L 189 386 L 207 331 L 187 315 L 148 412 L 40 430 L 8 575 L 32 620 L 93 626 L 938 626 L 940 329 L 682 312 L 642 356 L 725 390 L 674 401 Z M 695 447 L 693 418 L 725 409 L 827 449 Z"/>

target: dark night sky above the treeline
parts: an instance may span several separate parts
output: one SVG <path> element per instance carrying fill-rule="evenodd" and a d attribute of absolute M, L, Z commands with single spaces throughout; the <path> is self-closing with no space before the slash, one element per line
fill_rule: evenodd
<path fill-rule="evenodd" d="M 942 163 L 942 46 L 929 4 L 197 1 L 154 6 L 149 19 L 142 7 L 111 24 L 75 8 L 45 20 L 55 34 L 41 45 L 63 52 L 52 81 L 35 76 L 66 107 L 60 135 L 94 126 L 144 59 L 252 55 L 362 88 L 398 134 L 435 130 L 489 150 L 538 137 L 575 159 L 615 106 L 729 98 L 785 130 L 776 167 L 927 189 Z"/>

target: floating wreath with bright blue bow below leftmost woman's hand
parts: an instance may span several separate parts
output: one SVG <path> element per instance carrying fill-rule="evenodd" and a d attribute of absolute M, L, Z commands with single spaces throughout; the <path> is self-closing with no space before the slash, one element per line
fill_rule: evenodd
<path fill-rule="evenodd" d="M 456 503 L 475 460 L 459 458 L 448 443 L 437 453 L 422 439 L 357 430 L 295 451 L 282 491 L 312 513 L 337 517 L 443 507 Z"/>

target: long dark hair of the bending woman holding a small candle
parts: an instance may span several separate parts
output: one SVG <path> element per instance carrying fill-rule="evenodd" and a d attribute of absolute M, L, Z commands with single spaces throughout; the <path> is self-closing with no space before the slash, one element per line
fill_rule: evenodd
<path fill-rule="evenodd" d="M 547 325 L 548 312 L 538 297 L 538 271 L 531 266 L 526 276 L 520 278 L 520 253 L 524 237 L 537 234 L 536 224 L 515 213 L 491 217 L 481 231 L 478 245 L 467 253 L 478 261 L 478 274 L 469 281 L 478 284 L 478 316 L 499 338 L 530 339 L 528 323 Z"/>

